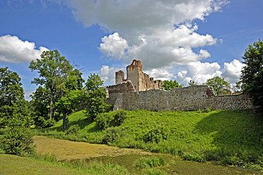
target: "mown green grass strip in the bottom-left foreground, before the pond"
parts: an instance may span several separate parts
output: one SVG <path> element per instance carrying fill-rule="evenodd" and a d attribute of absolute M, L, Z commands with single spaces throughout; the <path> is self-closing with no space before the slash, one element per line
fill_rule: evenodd
<path fill-rule="evenodd" d="M 128 174 L 127 169 L 118 164 L 71 164 L 57 161 L 54 156 L 40 154 L 35 157 L 0 154 L 0 167 L 0 174 Z"/>

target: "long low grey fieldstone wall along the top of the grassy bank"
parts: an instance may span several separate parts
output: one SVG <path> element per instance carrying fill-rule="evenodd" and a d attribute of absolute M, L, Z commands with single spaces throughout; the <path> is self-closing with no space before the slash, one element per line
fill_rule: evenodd
<path fill-rule="evenodd" d="M 123 92 L 109 90 L 109 100 L 114 104 L 114 110 L 204 110 L 207 107 L 213 110 L 252 109 L 252 102 L 247 95 L 215 96 L 213 88 L 207 85 L 190 86 L 186 88 L 174 88 L 172 90 L 147 90 L 139 91 L 131 89 Z"/>

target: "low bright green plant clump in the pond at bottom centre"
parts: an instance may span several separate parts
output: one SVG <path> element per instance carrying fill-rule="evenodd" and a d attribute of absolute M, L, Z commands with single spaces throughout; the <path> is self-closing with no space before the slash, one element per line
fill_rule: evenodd
<path fill-rule="evenodd" d="M 142 157 L 134 162 L 134 166 L 139 169 L 153 168 L 166 165 L 166 160 L 163 157 Z"/>

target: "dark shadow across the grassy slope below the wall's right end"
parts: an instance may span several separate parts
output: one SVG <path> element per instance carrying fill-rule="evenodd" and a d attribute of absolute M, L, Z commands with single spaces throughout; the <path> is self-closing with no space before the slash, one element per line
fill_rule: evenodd
<path fill-rule="evenodd" d="M 221 157 L 263 156 L 263 117 L 254 110 L 211 112 L 195 129 L 213 138 L 216 148 L 213 151 Z"/>

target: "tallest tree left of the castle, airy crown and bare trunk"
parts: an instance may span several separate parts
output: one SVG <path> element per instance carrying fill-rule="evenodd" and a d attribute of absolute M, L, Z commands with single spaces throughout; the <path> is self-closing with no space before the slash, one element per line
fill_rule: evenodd
<path fill-rule="evenodd" d="M 34 78 L 32 83 L 42 85 L 48 91 L 49 116 L 52 119 L 55 102 L 58 102 L 70 90 L 81 88 L 84 80 L 81 78 L 82 73 L 77 69 L 74 70 L 73 65 L 70 65 L 69 61 L 57 50 L 43 51 L 41 58 L 32 60 L 28 67 L 31 71 L 38 70 L 39 73 L 39 78 Z M 59 108 L 63 109 L 61 103 Z"/>

